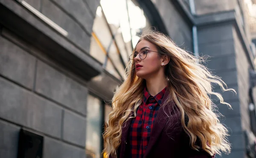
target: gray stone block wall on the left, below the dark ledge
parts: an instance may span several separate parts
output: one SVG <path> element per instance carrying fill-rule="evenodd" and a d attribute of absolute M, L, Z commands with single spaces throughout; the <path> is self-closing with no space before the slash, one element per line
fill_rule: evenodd
<path fill-rule="evenodd" d="M 23 128 L 44 136 L 44 158 L 84 158 L 86 83 L 5 28 L 0 47 L 0 157 L 17 157 Z"/>

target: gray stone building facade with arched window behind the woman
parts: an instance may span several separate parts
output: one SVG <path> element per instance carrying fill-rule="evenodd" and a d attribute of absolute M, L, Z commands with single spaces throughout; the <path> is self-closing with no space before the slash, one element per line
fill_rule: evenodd
<path fill-rule="evenodd" d="M 20 129 L 44 138 L 44 158 L 100 158 L 113 92 L 138 35 L 151 26 L 211 56 L 207 67 L 237 92 L 214 89 L 233 106 L 212 98 L 230 132 L 232 152 L 222 157 L 255 156 L 253 3 L 0 0 L 0 158 L 18 156 Z"/>

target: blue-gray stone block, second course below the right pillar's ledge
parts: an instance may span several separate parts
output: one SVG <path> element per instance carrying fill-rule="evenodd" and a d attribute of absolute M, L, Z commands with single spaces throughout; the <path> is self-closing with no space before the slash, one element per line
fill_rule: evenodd
<path fill-rule="evenodd" d="M 202 43 L 198 46 L 199 54 L 219 57 L 222 55 L 234 55 L 234 41 L 225 40 L 217 43 Z"/>

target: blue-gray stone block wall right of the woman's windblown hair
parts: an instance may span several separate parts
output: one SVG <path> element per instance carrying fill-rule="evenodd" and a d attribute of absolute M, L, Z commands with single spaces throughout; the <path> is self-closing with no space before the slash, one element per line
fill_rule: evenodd
<path fill-rule="evenodd" d="M 210 37 L 210 38 L 209 38 Z M 216 97 L 212 96 L 214 103 L 218 107 L 220 112 L 225 117 L 220 117 L 221 123 L 227 126 L 230 136 L 228 137 L 232 144 L 232 152 L 229 155 L 223 155 L 223 158 L 244 158 L 245 156 L 245 144 L 244 144 L 244 117 L 248 117 L 248 113 L 244 113 L 244 104 L 241 104 L 241 99 L 248 98 L 248 93 L 245 93 L 241 89 L 239 84 L 240 78 L 248 77 L 241 74 L 240 68 L 237 65 L 239 57 L 237 57 L 236 43 L 233 36 L 233 24 L 215 24 L 212 26 L 204 26 L 198 28 L 198 46 L 199 54 L 209 55 L 209 61 L 205 64 L 211 69 L 211 71 L 221 77 L 221 79 L 227 84 L 228 88 L 236 90 L 237 95 L 233 92 L 222 92 L 219 86 L 213 85 L 214 91 L 219 92 L 224 101 L 230 103 L 233 110 L 229 109 L 227 105 L 220 104 L 216 101 Z M 239 52 L 243 53 L 243 52 Z M 241 55 L 244 57 L 244 55 Z M 247 61 L 244 61 L 245 63 Z M 246 63 L 248 65 L 248 62 Z M 244 83 L 245 84 L 245 83 Z M 247 82 L 248 84 L 248 82 Z M 244 87 L 246 87 L 244 85 Z M 248 124 L 246 126 L 249 127 Z M 217 156 L 219 157 L 219 155 Z"/>

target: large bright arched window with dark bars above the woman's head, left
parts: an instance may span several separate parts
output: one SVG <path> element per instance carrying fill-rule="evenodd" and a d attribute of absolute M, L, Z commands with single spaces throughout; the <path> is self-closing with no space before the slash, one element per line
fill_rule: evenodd
<path fill-rule="evenodd" d="M 90 54 L 121 80 L 139 34 L 151 25 L 134 0 L 101 0 L 100 4 L 93 23 Z"/>

